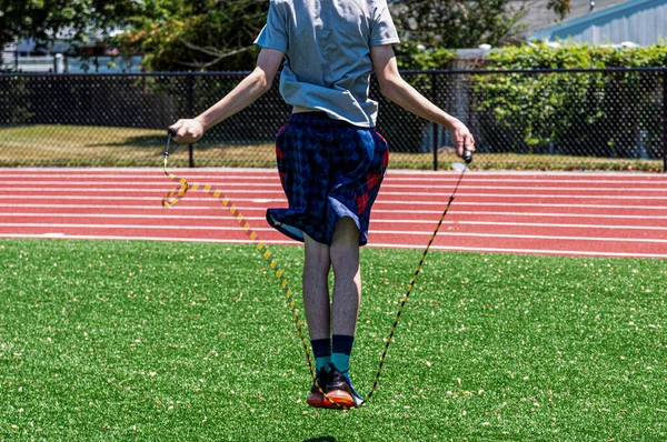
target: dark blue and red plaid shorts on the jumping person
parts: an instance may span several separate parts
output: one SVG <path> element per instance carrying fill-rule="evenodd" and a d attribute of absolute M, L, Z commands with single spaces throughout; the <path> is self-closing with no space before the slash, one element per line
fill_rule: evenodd
<path fill-rule="evenodd" d="M 267 210 L 287 237 L 331 244 L 336 222 L 349 217 L 368 241 L 370 208 L 389 163 L 387 141 L 372 128 L 323 112 L 295 113 L 276 135 L 276 158 L 288 209 Z"/>

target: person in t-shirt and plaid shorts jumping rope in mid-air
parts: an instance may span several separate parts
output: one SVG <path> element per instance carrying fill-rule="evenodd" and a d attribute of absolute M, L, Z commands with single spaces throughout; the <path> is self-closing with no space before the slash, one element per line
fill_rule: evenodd
<path fill-rule="evenodd" d="M 367 243 L 370 210 L 389 161 L 388 143 L 375 130 L 378 103 L 369 98 L 370 74 L 382 96 L 446 127 L 459 157 L 475 151 L 468 128 L 400 77 L 398 42 L 386 0 L 271 0 L 256 40 L 261 49 L 255 70 L 203 113 L 170 127 L 181 144 L 199 140 L 266 93 L 283 63 L 280 93 L 292 113 L 276 137 L 276 157 L 289 207 L 268 209 L 267 221 L 305 243 L 303 307 L 316 382 L 326 392 L 313 384 L 311 406 L 361 401 L 349 376 L 361 300 L 359 248 Z"/>

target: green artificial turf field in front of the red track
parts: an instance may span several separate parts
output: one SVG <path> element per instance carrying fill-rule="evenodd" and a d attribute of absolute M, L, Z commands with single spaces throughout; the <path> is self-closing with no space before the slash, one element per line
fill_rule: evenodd
<path fill-rule="evenodd" d="M 272 248 L 299 291 L 299 248 Z M 367 393 L 420 251 L 362 250 Z M 664 261 L 429 254 L 380 389 L 306 405 L 252 247 L 0 241 L 0 441 L 663 441 Z"/>

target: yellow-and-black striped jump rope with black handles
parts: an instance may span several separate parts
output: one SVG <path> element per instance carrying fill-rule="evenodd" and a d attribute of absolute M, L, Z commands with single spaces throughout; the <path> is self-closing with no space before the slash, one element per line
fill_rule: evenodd
<path fill-rule="evenodd" d="M 415 282 L 417 281 L 417 277 L 419 275 L 419 272 L 421 271 L 421 265 L 424 264 L 424 261 L 426 260 L 426 255 L 428 254 L 428 251 L 430 250 L 430 247 L 431 247 L 434 240 L 436 239 L 436 235 L 438 234 L 440 227 L 442 225 L 442 221 L 445 221 L 445 217 L 447 215 L 447 212 L 449 211 L 449 207 L 451 205 L 451 202 L 454 201 L 454 197 L 456 194 L 456 191 L 458 190 L 461 179 L 464 178 L 464 174 L 468 170 L 468 164 L 472 160 L 472 152 L 467 151 L 467 150 L 465 151 L 465 155 L 464 155 L 464 160 L 466 162 L 465 164 L 464 163 L 454 163 L 452 164 L 452 169 L 456 171 L 460 171 L 461 173 L 459 175 L 458 181 L 456 182 L 456 187 L 454 188 L 451 195 L 449 197 L 449 201 L 447 202 L 447 205 L 445 207 L 445 210 L 442 211 L 442 214 L 440 215 L 438 225 L 436 227 L 434 234 L 431 235 L 430 240 L 428 241 L 426 249 L 421 253 L 421 258 L 419 259 L 419 264 L 417 264 L 417 269 L 415 270 L 415 273 L 412 274 L 412 279 L 410 280 L 410 283 L 408 284 L 408 290 L 406 291 L 406 294 L 404 294 L 404 297 L 400 301 L 398 312 L 396 313 L 396 318 L 394 319 L 394 324 L 391 325 L 391 331 L 389 332 L 389 335 L 387 336 L 387 339 L 385 339 L 385 349 L 382 351 L 382 355 L 380 356 L 380 362 L 378 364 L 378 371 L 376 373 L 375 381 L 372 383 L 370 391 L 368 392 L 368 394 L 365 398 L 362 398 L 360 403 L 358 403 L 356 405 L 342 405 L 342 404 L 331 401 L 327 396 L 323 385 L 320 385 L 317 382 L 317 375 L 315 373 L 312 358 L 310 355 L 310 350 L 308 349 L 308 340 L 306 339 L 306 334 L 303 333 L 303 322 L 299 318 L 299 310 L 296 307 L 293 292 L 289 288 L 287 278 L 285 277 L 285 272 L 278 265 L 278 261 L 276 261 L 276 259 L 273 258 L 273 254 L 271 253 L 271 251 L 269 251 L 269 248 L 259 240 L 257 232 L 255 230 L 252 230 L 250 224 L 245 220 L 243 214 L 239 211 L 239 209 L 233 204 L 233 202 L 231 202 L 231 200 L 220 189 L 216 189 L 211 184 L 207 184 L 207 183 L 197 183 L 197 182 L 190 183 L 185 178 L 177 177 L 173 173 L 169 172 L 169 170 L 168 170 L 169 145 L 171 144 L 171 139 L 173 137 L 176 137 L 176 130 L 170 128 L 168 130 L 168 135 L 167 135 L 167 147 L 165 149 L 163 170 L 165 170 L 165 174 L 169 179 L 180 183 L 180 185 L 165 194 L 165 197 L 162 198 L 162 205 L 166 208 L 172 208 L 178 202 L 180 202 L 180 200 L 183 197 L 186 197 L 186 194 L 188 192 L 207 193 L 207 194 L 212 195 L 212 198 L 215 198 L 219 203 L 221 203 L 229 211 L 229 213 L 232 217 L 235 217 L 236 221 L 239 223 L 239 227 L 243 230 L 243 232 L 246 232 L 246 235 L 250 239 L 250 241 L 252 241 L 257 251 L 261 254 L 261 257 L 267 262 L 269 268 L 273 271 L 276 279 L 278 279 L 280 290 L 282 291 L 283 295 L 286 297 L 289 308 L 291 310 L 291 314 L 292 314 L 292 318 L 295 321 L 295 327 L 297 329 L 297 333 L 299 334 L 299 340 L 301 341 L 301 345 L 303 346 L 303 353 L 306 355 L 306 361 L 308 362 L 308 369 L 310 370 L 310 376 L 312 378 L 313 385 L 323 395 L 326 401 L 331 402 L 340 410 L 350 410 L 350 409 L 356 409 L 356 408 L 360 408 L 360 406 L 365 405 L 370 400 L 370 398 L 372 396 L 372 393 L 378 388 L 378 383 L 380 381 L 380 375 L 382 373 L 382 368 L 385 365 L 385 359 L 387 358 L 389 344 L 391 343 L 391 341 L 394 339 L 394 333 L 396 332 L 396 328 L 398 327 L 398 321 L 400 320 L 400 315 L 404 311 L 406 302 L 408 301 L 408 298 L 410 298 L 410 293 L 412 292 L 412 289 L 415 288 Z"/>

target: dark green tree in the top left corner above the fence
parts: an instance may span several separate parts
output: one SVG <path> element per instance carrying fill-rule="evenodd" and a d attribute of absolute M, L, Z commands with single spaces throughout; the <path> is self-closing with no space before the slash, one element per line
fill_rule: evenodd
<path fill-rule="evenodd" d="M 0 0 L 0 47 L 32 38 L 47 46 L 58 34 L 87 42 L 90 34 L 126 23 L 157 0 Z"/>

